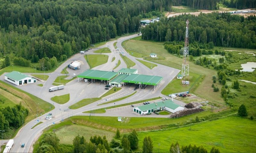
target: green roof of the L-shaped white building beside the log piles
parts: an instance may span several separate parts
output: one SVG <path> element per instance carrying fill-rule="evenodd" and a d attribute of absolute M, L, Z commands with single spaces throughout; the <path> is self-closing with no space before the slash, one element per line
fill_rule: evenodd
<path fill-rule="evenodd" d="M 156 102 L 156 103 L 152 103 L 152 104 L 142 105 L 142 106 L 139 106 L 138 108 L 141 111 L 148 111 L 151 109 L 156 109 L 156 108 L 160 108 L 160 107 L 164 107 L 164 106 L 174 110 L 174 109 L 178 108 L 180 105 L 173 103 L 172 100 L 165 100 L 165 101 L 160 101 L 160 102 Z"/>

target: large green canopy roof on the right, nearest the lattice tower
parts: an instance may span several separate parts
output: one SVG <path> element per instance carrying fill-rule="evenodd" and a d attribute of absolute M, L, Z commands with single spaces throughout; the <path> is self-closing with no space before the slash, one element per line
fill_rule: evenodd
<path fill-rule="evenodd" d="M 134 84 L 156 85 L 162 79 L 163 79 L 163 77 L 158 77 L 158 76 L 147 76 L 147 75 L 142 75 L 142 74 L 131 74 L 128 77 L 124 78 L 123 82 L 134 83 Z"/>

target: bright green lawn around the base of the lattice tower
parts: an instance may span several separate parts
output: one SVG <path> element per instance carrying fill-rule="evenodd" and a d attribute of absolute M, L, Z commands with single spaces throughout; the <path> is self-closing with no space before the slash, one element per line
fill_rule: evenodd
<path fill-rule="evenodd" d="M 184 91 L 189 91 L 189 89 L 192 87 L 193 84 L 196 83 L 196 81 L 198 81 L 198 79 L 200 78 L 199 74 L 196 73 L 189 73 L 189 86 L 185 86 L 183 87 L 183 85 L 181 85 L 181 79 L 177 79 L 177 77 L 175 77 L 165 88 L 164 90 L 162 90 L 162 94 L 164 95 L 169 95 L 172 93 L 177 93 L 177 92 L 184 92 Z"/>

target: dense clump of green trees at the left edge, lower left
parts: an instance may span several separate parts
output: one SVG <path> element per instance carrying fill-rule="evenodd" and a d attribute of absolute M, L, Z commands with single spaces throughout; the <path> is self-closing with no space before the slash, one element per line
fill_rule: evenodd
<path fill-rule="evenodd" d="M 3 99 L 0 102 L 4 104 Z M 0 109 L 0 129 L 4 130 L 4 138 L 12 135 L 13 131 L 19 128 L 28 116 L 28 109 L 23 107 L 21 103 L 13 107 L 7 106 Z M 7 134 L 5 134 L 7 133 Z"/>

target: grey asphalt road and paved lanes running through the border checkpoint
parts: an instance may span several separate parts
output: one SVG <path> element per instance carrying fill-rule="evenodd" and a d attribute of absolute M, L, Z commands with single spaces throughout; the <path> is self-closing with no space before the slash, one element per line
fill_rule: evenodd
<path fill-rule="evenodd" d="M 161 65 L 158 63 L 156 63 L 157 67 L 155 67 L 154 69 L 152 69 L 152 70 L 148 69 L 148 67 L 146 67 L 143 64 L 141 64 L 140 62 L 138 62 L 135 57 L 127 54 L 127 52 L 121 46 L 121 43 L 124 40 L 128 40 L 128 39 L 131 39 L 136 36 L 137 35 L 130 35 L 130 36 L 122 37 L 118 40 L 109 41 L 105 45 L 101 46 L 100 48 L 109 47 L 112 52 L 104 53 L 109 56 L 107 63 L 102 64 L 93 69 L 111 70 L 116 66 L 116 63 L 118 62 L 118 60 L 121 61 L 121 64 L 120 64 L 120 66 L 118 66 L 118 68 L 115 69 L 115 71 L 118 71 L 121 68 L 126 68 L 126 64 L 120 57 L 119 52 L 117 52 L 114 48 L 113 44 L 114 44 L 114 42 L 117 41 L 116 45 L 119 48 L 119 51 L 124 52 L 128 58 L 130 58 L 133 62 L 136 63 L 136 65 L 132 68 L 138 69 L 138 73 L 145 74 L 145 75 L 157 75 L 157 76 L 161 76 L 164 78 L 163 78 L 161 85 L 158 88 L 156 88 L 156 90 L 154 90 L 153 86 L 148 86 L 144 90 L 139 89 L 139 90 L 137 90 L 137 93 L 134 94 L 133 96 L 126 98 L 124 100 L 121 100 L 121 101 L 117 101 L 117 102 L 115 102 L 114 105 L 129 103 L 129 102 L 148 99 L 148 98 L 154 98 L 154 97 L 158 97 L 158 96 L 165 97 L 164 95 L 161 94 L 161 91 L 180 72 L 180 70 L 178 70 L 178 69 L 167 67 L 167 66 L 164 66 L 164 65 Z M 95 50 L 96 49 L 89 50 L 89 52 L 86 52 L 86 54 L 95 54 L 95 53 L 93 53 L 93 51 L 95 51 Z M 113 57 L 116 57 L 116 58 L 115 58 L 115 61 L 112 62 Z M 122 87 L 123 88 L 122 90 L 120 90 L 114 94 L 111 94 L 107 97 L 104 97 L 104 99 L 96 101 L 90 105 L 81 107 L 76 110 L 68 109 L 68 106 L 71 106 L 84 98 L 100 97 L 100 95 L 107 92 L 106 90 L 104 90 L 104 86 L 106 84 L 104 84 L 102 82 L 84 83 L 82 81 L 78 82 L 78 79 L 75 79 L 75 80 L 69 82 L 68 84 L 66 84 L 65 88 L 63 90 L 49 92 L 48 89 L 53 86 L 52 83 L 56 79 L 56 77 L 63 75 L 63 74 L 60 74 L 62 69 L 64 69 L 70 62 L 72 62 L 74 60 L 81 61 L 83 63 L 83 65 L 81 66 L 81 70 L 68 69 L 70 77 L 75 77 L 78 74 L 80 74 L 81 72 L 83 72 L 84 70 L 89 69 L 87 62 L 84 59 L 84 55 L 76 54 L 76 55 L 73 55 L 72 57 L 70 57 L 66 62 L 64 62 L 54 72 L 46 74 L 46 75 L 49 75 L 49 78 L 47 79 L 47 81 L 44 81 L 44 82 L 38 81 L 36 83 L 36 84 L 43 84 L 43 87 L 39 87 L 36 84 L 16 86 L 17 88 L 20 88 L 21 90 L 27 91 L 45 101 L 53 104 L 55 106 L 55 109 L 52 110 L 51 112 L 49 112 L 54 115 L 54 118 L 52 118 L 52 120 L 45 120 L 45 116 L 48 113 L 45 113 L 42 115 L 40 114 L 41 116 L 37 117 L 35 120 L 28 122 L 23 128 L 21 128 L 20 131 L 18 132 L 18 134 L 14 138 L 14 145 L 11 149 L 11 152 L 32 152 L 33 151 L 32 144 L 42 134 L 43 129 L 47 128 L 48 126 L 50 126 L 54 123 L 60 122 L 61 120 L 64 120 L 70 116 L 75 116 L 75 115 L 94 115 L 94 116 L 96 116 L 96 115 L 100 115 L 100 116 L 127 115 L 127 117 L 134 117 L 134 116 L 152 117 L 150 115 L 141 116 L 141 115 L 134 114 L 134 113 L 125 113 L 124 114 L 124 111 L 119 111 L 119 113 L 118 113 L 118 111 L 116 111 L 116 113 L 108 113 L 108 111 L 107 111 L 107 113 L 104 113 L 104 114 L 82 113 L 84 111 L 90 111 L 90 110 L 94 110 L 94 109 L 113 106 L 112 103 L 100 105 L 100 106 L 97 106 L 97 104 L 103 103 L 108 100 L 113 100 L 116 98 L 124 97 L 126 95 L 133 93 L 134 92 L 133 89 L 136 85 L 132 85 L 132 84 L 126 85 L 126 86 Z M 0 79 L 4 80 L 4 75 L 2 75 L 0 77 Z M 7 82 L 7 81 L 5 81 L 5 82 Z M 60 104 L 57 104 L 57 103 L 51 101 L 51 98 L 53 96 L 63 95 L 63 94 L 67 94 L 67 93 L 70 94 L 70 100 L 67 103 L 60 105 Z M 161 117 L 161 116 L 158 116 L 158 117 Z M 38 121 L 42 121 L 43 123 L 39 124 L 38 126 L 36 126 L 33 129 L 31 129 L 31 127 L 33 127 Z M 25 143 L 25 147 L 21 148 L 20 143 Z"/>

